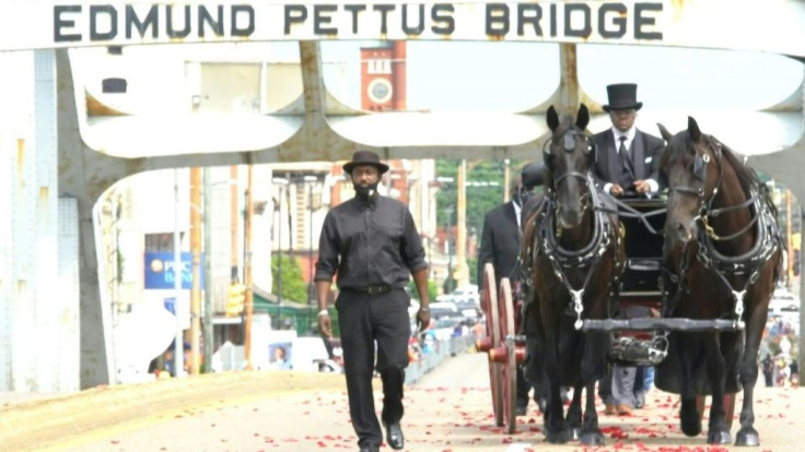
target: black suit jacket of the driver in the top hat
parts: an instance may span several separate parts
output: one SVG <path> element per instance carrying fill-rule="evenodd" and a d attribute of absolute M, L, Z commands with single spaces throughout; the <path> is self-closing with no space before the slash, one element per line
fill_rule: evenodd
<path fill-rule="evenodd" d="M 593 135 L 597 154 L 593 176 L 599 190 L 606 183 L 620 182 L 620 160 L 618 150 L 615 147 L 615 135 L 612 129 Z M 665 141 L 658 136 L 637 130 L 632 140 L 630 154 L 634 164 L 634 178 L 637 180 L 654 179 L 660 185 L 660 157 L 665 150 Z M 623 187 L 628 190 L 629 187 Z M 663 187 L 660 186 L 660 190 Z"/>

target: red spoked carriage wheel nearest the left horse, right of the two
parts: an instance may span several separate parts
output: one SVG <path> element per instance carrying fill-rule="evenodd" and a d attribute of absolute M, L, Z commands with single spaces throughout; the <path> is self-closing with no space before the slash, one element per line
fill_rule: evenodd
<path fill-rule="evenodd" d="M 506 431 L 511 435 L 517 427 L 517 358 L 514 341 L 506 343 L 508 336 L 514 336 L 514 302 L 512 286 L 508 277 L 500 282 L 498 294 L 498 311 L 500 312 L 501 345 L 505 347 L 505 360 L 501 365 L 501 385 L 503 386 L 503 417 Z"/>

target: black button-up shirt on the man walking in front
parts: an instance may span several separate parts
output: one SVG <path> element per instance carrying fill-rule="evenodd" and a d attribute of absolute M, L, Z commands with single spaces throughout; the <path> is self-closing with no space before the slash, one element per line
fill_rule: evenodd
<path fill-rule="evenodd" d="M 401 202 L 377 195 L 368 204 L 353 198 L 327 213 L 315 281 L 338 274 L 339 289 L 402 288 L 412 272 L 427 266 L 413 217 Z"/>

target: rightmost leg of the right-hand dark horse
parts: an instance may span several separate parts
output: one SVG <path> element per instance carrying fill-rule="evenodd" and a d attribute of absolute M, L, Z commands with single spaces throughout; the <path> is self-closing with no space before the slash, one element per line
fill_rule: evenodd
<path fill-rule="evenodd" d="M 757 319 L 756 317 L 760 317 Z M 746 342 L 744 355 L 738 365 L 738 378 L 744 386 L 744 404 L 740 407 L 740 429 L 735 435 L 735 445 L 760 445 L 760 436 L 755 430 L 755 383 L 758 381 L 758 348 L 760 347 L 760 334 L 763 330 L 763 317 L 756 312 L 746 323 Z M 760 326 L 754 326 L 760 325 Z"/>

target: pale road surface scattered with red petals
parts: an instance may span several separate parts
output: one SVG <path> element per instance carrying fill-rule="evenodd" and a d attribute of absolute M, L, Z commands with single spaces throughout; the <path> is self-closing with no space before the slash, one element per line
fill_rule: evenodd
<path fill-rule="evenodd" d="M 598 405 L 605 447 L 546 443 L 534 404 L 528 416 L 518 419 L 517 431 L 505 435 L 494 426 L 486 356 L 480 354 L 448 359 L 407 388 L 405 395 L 407 451 L 805 450 L 805 390 L 800 389 L 758 388 L 756 428 L 761 447 L 751 449 L 710 447 L 704 435 L 685 437 L 678 427 L 677 396 L 660 391 L 650 392 L 646 408 L 631 417 L 603 416 Z M 382 395 L 376 392 L 375 397 L 380 407 Z M 737 419 L 733 437 L 736 430 Z M 97 389 L 0 408 L 2 451 L 311 452 L 357 450 L 355 441 L 340 374 L 230 372 Z"/>

